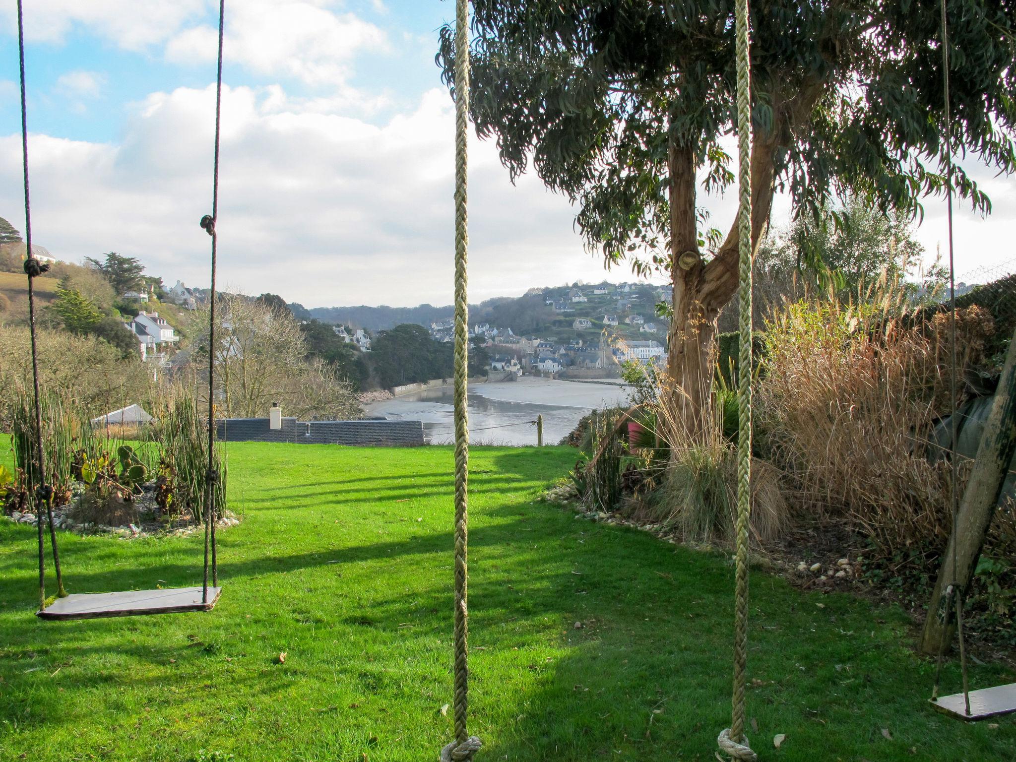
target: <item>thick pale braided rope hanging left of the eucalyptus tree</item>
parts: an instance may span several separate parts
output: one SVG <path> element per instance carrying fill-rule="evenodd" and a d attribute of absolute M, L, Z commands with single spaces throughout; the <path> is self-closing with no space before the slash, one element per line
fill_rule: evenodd
<path fill-rule="evenodd" d="M 441 762 L 468 762 L 481 747 L 469 736 L 468 548 L 467 488 L 469 479 L 469 418 L 466 410 L 469 359 L 469 304 L 466 262 L 466 137 L 469 119 L 469 3 L 455 2 L 455 676 L 452 698 L 455 740 L 441 750 Z"/>

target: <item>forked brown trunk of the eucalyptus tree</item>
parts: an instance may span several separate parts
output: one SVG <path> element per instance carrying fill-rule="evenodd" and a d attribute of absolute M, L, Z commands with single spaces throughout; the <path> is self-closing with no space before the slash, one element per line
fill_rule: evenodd
<path fill-rule="evenodd" d="M 753 249 L 772 204 L 774 147 L 769 138 L 757 140 L 752 150 Z M 738 291 L 738 225 L 735 220 L 716 256 L 704 262 L 695 219 L 695 154 L 672 138 L 669 164 L 674 316 L 668 332 L 666 372 L 680 396 L 688 433 L 697 436 L 712 390 L 716 318 Z"/>

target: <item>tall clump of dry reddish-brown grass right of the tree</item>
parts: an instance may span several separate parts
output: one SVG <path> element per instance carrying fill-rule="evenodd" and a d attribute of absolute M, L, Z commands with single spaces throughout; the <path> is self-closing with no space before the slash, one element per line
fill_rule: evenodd
<path fill-rule="evenodd" d="M 774 460 L 820 517 L 846 517 L 886 549 L 939 547 L 951 527 L 950 466 L 926 455 L 950 408 L 949 320 L 913 324 L 901 292 L 881 288 L 860 305 L 803 301 L 767 321 L 758 416 Z M 991 329 L 979 308 L 958 315 L 960 378 Z"/>

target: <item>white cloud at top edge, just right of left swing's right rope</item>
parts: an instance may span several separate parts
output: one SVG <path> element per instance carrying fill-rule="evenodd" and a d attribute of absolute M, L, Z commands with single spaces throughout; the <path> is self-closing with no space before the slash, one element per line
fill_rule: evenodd
<path fill-rule="evenodd" d="M 245 0 L 231 6 L 224 54 L 228 61 L 268 76 L 311 84 L 341 83 L 353 58 L 386 51 L 387 36 L 353 13 L 338 14 L 328 2 Z M 206 63 L 217 52 L 217 29 L 195 26 L 176 35 L 166 56 L 175 63 Z"/>

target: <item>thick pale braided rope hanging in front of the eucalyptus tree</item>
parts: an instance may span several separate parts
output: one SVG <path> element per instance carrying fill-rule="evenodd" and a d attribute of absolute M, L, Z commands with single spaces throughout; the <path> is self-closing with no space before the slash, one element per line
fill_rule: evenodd
<path fill-rule="evenodd" d="M 720 751 L 738 760 L 757 755 L 745 735 L 745 684 L 748 670 L 748 522 L 751 516 L 752 477 L 752 120 L 751 59 L 748 40 L 748 0 L 737 0 L 738 69 L 738 251 L 740 254 L 740 339 L 738 359 L 738 518 L 734 616 L 734 696 L 731 726 L 719 734 Z"/>

